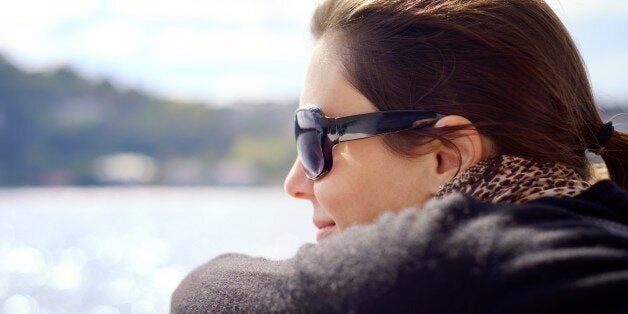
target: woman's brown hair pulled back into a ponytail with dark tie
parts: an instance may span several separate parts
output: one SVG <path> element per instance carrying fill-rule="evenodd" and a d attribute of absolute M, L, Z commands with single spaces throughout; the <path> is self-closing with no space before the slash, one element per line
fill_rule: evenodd
<path fill-rule="evenodd" d="M 585 150 L 597 147 L 603 122 L 582 58 L 544 1 L 328 0 L 311 31 L 315 40 L 333 34 L 347 80 L 379 110 L 461 115 L 498 153 L 559 162 L 590 178 Z M 384 141 L 410 156 L 420 141 L 447 144 L 444 135 L 463 127 Z M 628 135 L 615 131 L 601 156 L 628 190 Z"/>

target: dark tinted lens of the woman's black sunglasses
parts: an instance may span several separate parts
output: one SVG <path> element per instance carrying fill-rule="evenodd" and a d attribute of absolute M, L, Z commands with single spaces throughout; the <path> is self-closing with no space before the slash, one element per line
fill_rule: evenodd
<path fill-rule="evenodd" d="M 308 178 L 317 177 L 325 163 L 321 150 L 323 131 L 318 116 L 308 110 L 300 110 L 296 114 L 294 134 L 297 140 L 299 159 Z"/>

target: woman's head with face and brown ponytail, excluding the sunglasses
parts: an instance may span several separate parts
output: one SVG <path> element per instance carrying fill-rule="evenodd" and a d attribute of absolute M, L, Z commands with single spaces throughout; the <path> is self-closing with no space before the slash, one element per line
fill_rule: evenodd
<path fill-rule="evenodd" d="M 589 178 L 585 150 L 603 124 L 580 55 L 543 1 L 331 0 L 317 8 L 311 30 L 300 105 L 315 103 L 328 116 L 450 115 L 433 127 L 337 145 L 319 181 L 302 180 L 297 160 L 286 190 L 313 201 L 315 220 L 343 229 L 420 205 L 493 154 L 559 162 Z M 616 132 L 602 154 L 624 188 L 627 146 Z"/>

